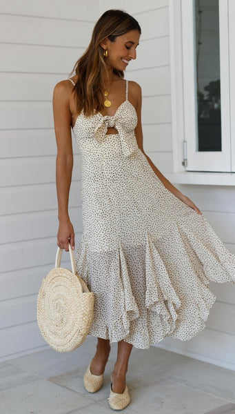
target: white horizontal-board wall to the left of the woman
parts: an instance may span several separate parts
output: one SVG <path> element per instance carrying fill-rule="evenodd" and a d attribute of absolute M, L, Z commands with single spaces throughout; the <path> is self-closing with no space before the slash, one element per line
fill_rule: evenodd
<path fill-rule="evenodd" d="M 47 346 L 36 311 L 57 250 L 52 92 L 88 46 L 98 15 L 96 0 L 0 5 L 0 359 Z M 76 144 L 74 159 L 70 216 L 79 237 Z"/>

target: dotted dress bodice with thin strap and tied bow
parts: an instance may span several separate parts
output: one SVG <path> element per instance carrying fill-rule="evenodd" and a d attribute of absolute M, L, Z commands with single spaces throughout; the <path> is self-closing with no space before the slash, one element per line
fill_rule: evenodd
<path fill-rule="evenodd" d="M 128 100 L 128 81 L 126 81 L 125 101 L 121 103 L 113 116 L 94 112 L 94 115 L 87 117 L 82 110 L 76 118 L 73 132 L 79 146 L 81 145 L 81 140 L 84 146 L 84 139 L 91 138 L 96 139 L 98 143 L 102 144 L 105 139 L 108 139 L 108 128 L 115 128 L 119 134 L 123 155 L 129 157 L 139 149 L 134 134 L 137 122 L 136 110 Z"/>

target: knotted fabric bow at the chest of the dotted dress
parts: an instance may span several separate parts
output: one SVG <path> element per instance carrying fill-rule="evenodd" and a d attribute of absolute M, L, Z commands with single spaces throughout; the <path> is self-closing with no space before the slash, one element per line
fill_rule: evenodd
<path fill-rule="evenodd" d="M 96 129 L 94 130 L 94 138 L 96 141 L 99 143 L 103 142 L 108 137 L 108 135 L 106 135 L 108 128 L 115 128 L 119 132 L 121 148 L 125 157 L 130 157 L 130 155 L 139 149 L 134 130 L 125 128 L 125 126 L 123 126 L 123 120 L 122 122 L 120 121 L 120 117 L 116 117 L 116 115 L 112 117 L 110 115 L 103 116 L 100 113 L 97 115 L 100 115 L 101 119 L 97 122 Z"/>

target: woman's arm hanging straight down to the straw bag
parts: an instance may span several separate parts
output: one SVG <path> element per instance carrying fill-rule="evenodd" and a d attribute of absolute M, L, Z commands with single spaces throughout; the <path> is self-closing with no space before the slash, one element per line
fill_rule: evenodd
<path fill-rule="evenodd" d="M 68 200 L 72 179 L 73 152 L 71 112 L 69 105 L 71 87 L 66 81 L 57 83 L 53 93 L 54 132 L 57 139 L 57 199 L 59 229 L 57 245 L 68 251 L 68 242 L 74 249 L 74 228 L 68 214 Z"/>

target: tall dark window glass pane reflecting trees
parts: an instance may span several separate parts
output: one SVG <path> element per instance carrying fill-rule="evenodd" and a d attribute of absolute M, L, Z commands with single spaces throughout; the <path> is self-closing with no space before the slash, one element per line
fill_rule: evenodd
<path fill-rule="evenodd" d="M 197 151 L 221 151 L 218 0 L 194 0 Z"/>

